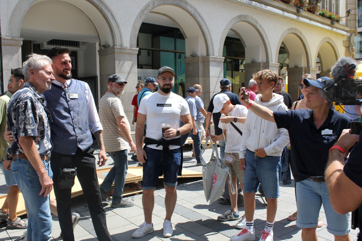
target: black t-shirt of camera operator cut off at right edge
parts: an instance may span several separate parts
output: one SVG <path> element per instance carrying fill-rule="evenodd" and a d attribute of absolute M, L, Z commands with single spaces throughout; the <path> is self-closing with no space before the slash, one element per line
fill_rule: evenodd
<path fill-rule="evenodd" d="M 346 176 L 353 181 L 356 185 L 362 188 L 362 131 L 359 133 L 359 141 L 353 147 L 349 158 L 344 165 L 343 171 Z M 362 203 L 358 208 L 358 224 L 359 224 L 359 235 L 357 241 L 362 241 Z"/>

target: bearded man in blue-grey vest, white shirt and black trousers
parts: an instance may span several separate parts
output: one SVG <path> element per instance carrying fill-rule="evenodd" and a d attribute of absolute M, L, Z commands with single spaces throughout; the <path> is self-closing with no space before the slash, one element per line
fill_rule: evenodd
<path fill-rule="evenodd" d="M 56 80 L 52 83 L 52 88 L 44 92 L 53 119 L 50 126 L 53 143 L 50 163 L 54 173 L 60 229 L 63 240 L 74 240 L 71 188 L 60 189 L 58 175 L 60 168 L 75 167 L 98 240 L 110 241 L 96 174 L 96 159 L 94 150 L 90 147 L 93 143 L 92 132 L 100 146 L 98 165 L 104 165 L 107 157 L 102 140 L 102 125 L 88 84 L 72 79 L 70 52 L 65 47 L 49 50 L 47 55 L 53 61 Z"/>

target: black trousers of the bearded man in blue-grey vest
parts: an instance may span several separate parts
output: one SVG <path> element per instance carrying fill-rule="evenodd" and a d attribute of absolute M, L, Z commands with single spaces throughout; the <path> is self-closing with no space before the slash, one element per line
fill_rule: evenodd
<path fill-rule="evenodd" d="M 59 189 L 58 173 L 59 166 L 64 164 L 64 160 L 69 160 L 77 168 L 77 178 L 82 187 L 84 197 L 87 200 L 90 217 L 92 218 L 94 231 L 98 240 L 111 241 L 106 223 L 106 213 L 104 211 L 101 193 L 99 189 L 96 159 L 94 150 L 89 148 L 84 152 L 78 148 L 75 155 L 63 155 L 56 152 L 51 153 L 50 165 L 53 172 L 53 186 L 56 197 L 56 208 L 58 219 L 64 241 L 74 241 L 72 214 L 71 214 L 71 189 Z M 63 161 L 63 162 L 62 162 Z M 64 167 L 63 167 L 64 168 Z"/>

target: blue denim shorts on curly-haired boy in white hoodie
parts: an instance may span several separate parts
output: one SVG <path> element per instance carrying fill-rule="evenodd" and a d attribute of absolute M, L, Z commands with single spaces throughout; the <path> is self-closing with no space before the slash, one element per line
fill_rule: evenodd
<path fill-rule="evenodd" d="M 247 150 L 245 155 L 244 192 L 256 193 L 260 183 L 265 197 L 270 199 L 278 198 L 281 176 L 280 156 L 260 158 L 254 156 L 254 154 L 255 152 Z"/>

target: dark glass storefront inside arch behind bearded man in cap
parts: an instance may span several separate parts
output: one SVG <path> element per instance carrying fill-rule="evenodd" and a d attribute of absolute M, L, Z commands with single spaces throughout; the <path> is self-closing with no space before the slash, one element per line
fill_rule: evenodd
<path fill-rule="evenodd" d="M 175 73 L 172 92 L 185 95 L 185 38 L 180 29 L 142 23 L 137 38 L 137 68 L 139 80 L 157 77 L 162 66 L 171 67 Z M 144 74 L 141 74 L 144 73 Z M 180 90 L 181 87 L 181 90 Z"/>

